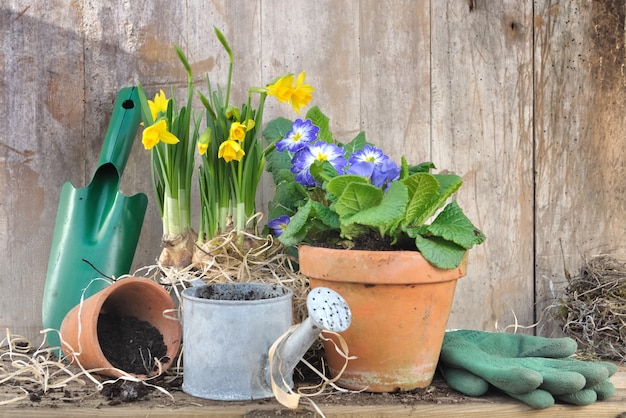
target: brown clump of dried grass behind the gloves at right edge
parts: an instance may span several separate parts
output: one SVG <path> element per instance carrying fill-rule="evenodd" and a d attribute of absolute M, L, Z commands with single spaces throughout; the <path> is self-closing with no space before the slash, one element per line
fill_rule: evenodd
<path fill-rule="evenodd" d="M 568 282 L 555 310 L 563 331 L 586 358 L 626 361 L 626 263 L 597 256 Z"/>

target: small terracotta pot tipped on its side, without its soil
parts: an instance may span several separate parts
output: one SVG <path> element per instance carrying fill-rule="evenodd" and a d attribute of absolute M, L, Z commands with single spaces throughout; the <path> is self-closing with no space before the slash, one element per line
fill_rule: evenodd
<path fill-rule="evenodd" d="M 166 356 L 170 361 L 162 364 L 162 370 L 167 370 L 178 354 L 182 339 L 180 322 L 163 316 L 163 312 L 169 309 L 176 309 L 176 304 L 158 283 L 138 277 L 116 281 L 85 299 L 82 307 L 75 306 L 65 316 L 61 324 L 61 338 L 69 347 L 64 344 L 63 352 L 71 362 L 79 361 L 87 370 L 102 369 L 98 373 L 111 377 L 122 376 L 123 373 L 102 352 L 98 341 L 98 317 L 101 313 L 133 316 L 149 322 L 163 336 L 167 347 Z M 133 375 L 148 378 L 156 373 Z"/>

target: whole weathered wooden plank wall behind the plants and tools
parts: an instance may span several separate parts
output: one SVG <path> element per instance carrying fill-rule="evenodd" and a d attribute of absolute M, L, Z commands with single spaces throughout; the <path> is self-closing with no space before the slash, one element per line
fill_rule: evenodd
<path fill-rule="evenodd" d="M 626 247 L 624 1 L 8 0 L 0 6 L 0 328 L 31 338 L 59 191 L 89 183 L 119 88 L 185 77 L 235 95 L 307 71 L 336 136 L 463 175 L 458 200 L 488 240 L 470 255 L 449 326 L 530 324 L 581 254 Z M 288 114 L 270 102 L 267 119 Z M 139 141 L 122 191 L 150 206 L 135 267 L 161 225 Z M 272 190 L 265 183 L 264 207 Z M 540 332 L 557 328 L 542 323 Z"/>

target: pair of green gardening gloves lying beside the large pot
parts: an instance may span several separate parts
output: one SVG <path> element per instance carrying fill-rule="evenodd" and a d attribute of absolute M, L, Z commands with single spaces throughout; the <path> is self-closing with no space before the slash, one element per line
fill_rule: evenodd
<path fill-rule="evenodd" d="M 555 399 L 589 405 L 609 398 L 609 377 L 617 366 L 570 358 L 577 349 L 571 338 L 544 338 L 484 331 L 448 331 L 439 370 L 446 383 L 469 396 L 481 396 L 492 385 L 533 408 L 548 408 Z"/>

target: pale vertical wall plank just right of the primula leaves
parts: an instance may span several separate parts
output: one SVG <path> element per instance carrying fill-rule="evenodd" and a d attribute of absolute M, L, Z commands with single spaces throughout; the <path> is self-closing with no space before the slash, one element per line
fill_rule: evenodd
<path fill-rule="evenodd" d="M 451 328 L 533 322 L 532 2 L 433 2 L 432 160 L 487 241 L 470 252 Z"/>

